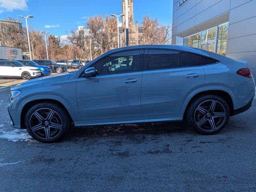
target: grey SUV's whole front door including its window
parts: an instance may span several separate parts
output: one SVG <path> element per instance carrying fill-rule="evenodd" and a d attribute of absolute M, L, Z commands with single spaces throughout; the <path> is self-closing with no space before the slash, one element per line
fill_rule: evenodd
<path fill-rule="evenodd" d="M 90 67 L 95 67 L 98 75 L 77 80 L 81 119 L 107 121 L 142 117 L 142 64 L 141 50 L 118 52 L 92 64 Z"/>

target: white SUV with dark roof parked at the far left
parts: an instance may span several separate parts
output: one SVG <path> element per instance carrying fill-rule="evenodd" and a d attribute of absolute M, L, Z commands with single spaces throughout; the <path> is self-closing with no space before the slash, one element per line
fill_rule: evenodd
<path fill-rule="evenodd" d="M 21 77 L 24 80 L 30 80 L 39 76 L 41 76 L 41 72 L 37 67 L 24 66 L 14 60 L 0 61 L 0 77 Z"/>

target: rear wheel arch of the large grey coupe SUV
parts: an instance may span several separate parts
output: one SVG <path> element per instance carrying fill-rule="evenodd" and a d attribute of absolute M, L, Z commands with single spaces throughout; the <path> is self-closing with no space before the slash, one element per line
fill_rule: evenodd
<path fill-rule="evenodd" d="M 223 90 L 221 88 L 219 89 L 209 89 L 209 90 L 201 90 L 201 91 L 194 91 L 187 98 L 185 99 L 183 106 L 181 108 L 180 114 L 184 114 L 183 118 L 185 118 L 187 109 L 191 102 L 195 100 L 196 98 L 204 95 L 216 95 L 224 99 L 228 106 L 230 107 L 230 116 L 234 115 L 234 94 L 230 90 Z"/>

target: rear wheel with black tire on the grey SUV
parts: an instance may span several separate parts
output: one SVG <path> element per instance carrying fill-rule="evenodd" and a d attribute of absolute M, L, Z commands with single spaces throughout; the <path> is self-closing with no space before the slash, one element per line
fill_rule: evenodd
<path fill-rule="evenodd" d="M 186 113 L 187 124 L 196 132 L 205 135 L 220 132 L 229 118 L 228 103 L 216 95 L 205 95 L 194 99 Z"/>

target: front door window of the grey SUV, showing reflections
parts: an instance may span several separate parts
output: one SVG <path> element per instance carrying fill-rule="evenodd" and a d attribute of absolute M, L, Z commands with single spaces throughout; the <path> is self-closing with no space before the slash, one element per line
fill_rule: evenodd
<path fill-rule="evenodd" d="M 135 72 L 138 69 L 138 62 L 139 50 L 126 51 L 105 57 L 95 64 L 95 68 L 101 75 Z"/>

